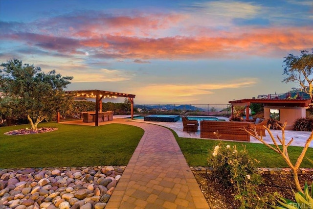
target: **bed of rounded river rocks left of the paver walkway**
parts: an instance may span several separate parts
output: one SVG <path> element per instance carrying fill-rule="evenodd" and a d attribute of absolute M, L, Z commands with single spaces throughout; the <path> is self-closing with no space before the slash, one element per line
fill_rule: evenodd
<path fill-rule="evenodd" d="M 104 209 L 126 166 L 0 170 L 0 209 Z"/>

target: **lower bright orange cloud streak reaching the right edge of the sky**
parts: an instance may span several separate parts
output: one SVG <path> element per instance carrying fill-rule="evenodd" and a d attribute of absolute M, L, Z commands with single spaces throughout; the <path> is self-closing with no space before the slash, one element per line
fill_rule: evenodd
<path fill-rule="evenodd" d="M 98 54 L 134 59 L 195 59 L 229 57 L 236 54 L 265 55 L 273 51 L 311 47 L 313 27 L 247 29 L 222 37 L 140 38 L 107 35 L 81 41 L 84 46 L 102 47 Z M 278 56 L 281 56 L 280 54 Z"/>

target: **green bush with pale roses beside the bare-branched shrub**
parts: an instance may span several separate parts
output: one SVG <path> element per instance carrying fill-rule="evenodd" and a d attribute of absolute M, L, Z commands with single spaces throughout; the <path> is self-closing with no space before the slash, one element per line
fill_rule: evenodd
<path fill-rule="evenodd" d="M 241 209 L 264 209 L 266 202 L 272 199 L 268 194 L 260 198 L 257 186 L 261 176 L 256 172 L 256 159 L 248 156 L 246 146 L 237 150 L 236 145 L 220 142 L 213 151 L 209 150 L 208 165 L 213 168 L 212 175 L 224 186 L 233 186 L 237 190 L 235 199 L 240 201 Z"/>

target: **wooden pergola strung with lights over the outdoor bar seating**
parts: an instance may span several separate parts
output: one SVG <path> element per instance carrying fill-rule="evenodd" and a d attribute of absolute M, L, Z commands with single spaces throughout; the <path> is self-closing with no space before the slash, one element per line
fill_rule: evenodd
<path fill-rule="evenodd" d="M 88 97 L 95 98 L 95 118 L 99 116 L 99 110 L 102 112 L 102 99 L 103 98 L 116 98 L 116 97 L 126 97 L 131 102 L 131 116 L 134 119 L 134 97 L 136 95 L 129 93 L 118 93 L 103 90 L 78 90 L 78 91 L 67 91 L 66 93 L 74 94 L 75 97 Z M 58 113 L 57 122 L 60 122 L 60 114 Z M 99 121 L 95 120 L 95 126 L 98 126 Z"/>

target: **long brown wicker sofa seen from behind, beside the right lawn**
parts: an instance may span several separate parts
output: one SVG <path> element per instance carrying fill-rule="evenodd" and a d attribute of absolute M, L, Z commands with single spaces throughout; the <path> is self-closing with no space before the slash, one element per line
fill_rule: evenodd
<path fill-rule="evenodd" d="M 250 129 L 249 122 L 201 120 L 200 137 L 210 139 L 228 139 L 250 141 L 250 135 L 240 128 Z M 215 133 L 219 134 L 217 137 Z"/>

